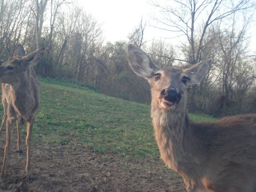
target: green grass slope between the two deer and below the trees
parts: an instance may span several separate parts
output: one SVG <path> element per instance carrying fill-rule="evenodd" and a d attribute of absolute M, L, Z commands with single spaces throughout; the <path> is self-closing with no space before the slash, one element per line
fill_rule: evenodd
<path fill-rule="evenodd" d="M 40 78 L 33 142 L 49 147 L 85 143 L 125 158 L 159 157 L 150 105 L 105 96 L 90 85 Z M 3 108 L 1 106 L 1 113 Z M 214 120 L 191 115 L 194 120 Z M 23 138 L 26 129 L 22 129 Z"/>

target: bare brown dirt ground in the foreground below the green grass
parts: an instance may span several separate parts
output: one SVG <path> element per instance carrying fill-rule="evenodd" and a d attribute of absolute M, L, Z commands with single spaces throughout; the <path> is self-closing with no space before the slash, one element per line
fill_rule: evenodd
<path fill-rule="evenodd" d="M 98 154 L 86 145 L 54 148 L 32 144 L 32 173 L 35 180 L 24 179 L 26 149 L 15 151 L 12 143 L 6 181 L 0 191 L 185 191 L 183 182 L 163 163 L 152 160 L 129 161 L 113 154 Z M 24 145 L 23 145 L 24 146 Z M 0 147 L 2 166 L 4 147 Z M 160 160 L 159 160 L 160 161 Z"/>

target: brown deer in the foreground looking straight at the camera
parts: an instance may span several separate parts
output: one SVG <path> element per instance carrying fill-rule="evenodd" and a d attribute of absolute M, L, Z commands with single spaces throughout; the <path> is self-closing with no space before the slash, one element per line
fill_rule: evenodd
<path fill-rule="evenodd" d="M 178 173 L 189 192 L 256 191 L 256 114 L 214 122 L 189 119 L 187 89 L 203 80 L 211 59 L 186 69 L 159 68 L 129 44 L 132 71 L 151 86 L 151 117 L 165 165 Z"/>

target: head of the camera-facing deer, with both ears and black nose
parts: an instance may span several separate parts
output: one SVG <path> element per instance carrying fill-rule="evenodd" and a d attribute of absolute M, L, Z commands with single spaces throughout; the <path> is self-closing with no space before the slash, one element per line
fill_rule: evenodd
<path fill-rule="evenodd" d="M 134 73 L 151 85 L 152 108 L 168 111 L 179 106 L 184 108 L 187 86 L 200 82 L 211 63 L 208 59 L 187 69 L 159 68 L 145 52 L 131 44 L 127 47 L 127 56 Z"/>

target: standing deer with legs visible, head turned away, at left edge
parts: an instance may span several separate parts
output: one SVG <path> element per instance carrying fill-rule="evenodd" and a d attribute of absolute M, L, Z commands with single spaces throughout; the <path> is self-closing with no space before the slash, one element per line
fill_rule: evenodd
<path fill-rule="evenodd" d="M 0 133 L 6 126 L 6 143 L 4 148 L 4 159 L 0 174 L 0 181 L 5 179 L 5 169 L 7 166 L 13 125 L 17 125 L 17 150 L 22 151 L 20 141 L 20 125 L 27 122 L 27 163 L 26 179 L 33 180 L 31 173 L 31 143 L 32 127 L 36 111 L 39 107 L 40 93 L 39 82 L 36 77 L 33 66 L 40 61 L 45 48 L 38 49 L 28 55 L 22 45 L 18 44 L 15 48 L 13 57 L 10 57 L 0 66 L 0 82 L 2 88 L 2 103 L 4 106 L 4 115 Z"/>

